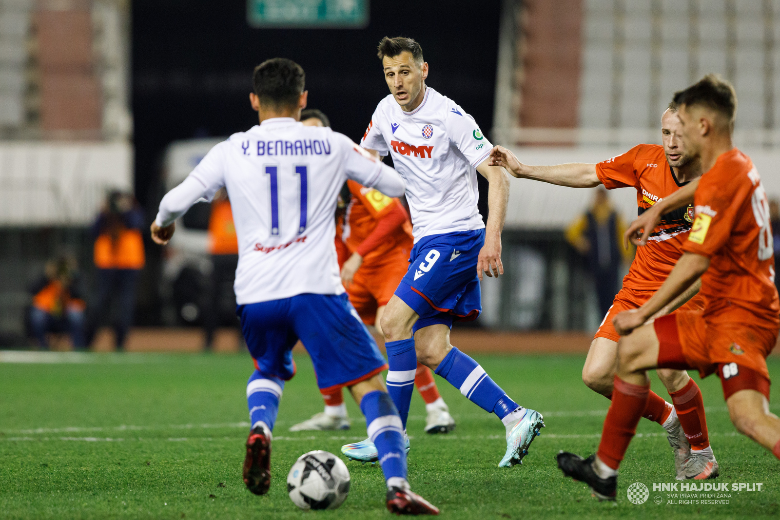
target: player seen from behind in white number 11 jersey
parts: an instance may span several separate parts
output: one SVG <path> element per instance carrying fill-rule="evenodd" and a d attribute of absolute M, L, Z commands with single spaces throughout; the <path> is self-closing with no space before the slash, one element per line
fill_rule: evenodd
<path fill-rule="evenodd" d="M 289 59 L 258 65 L 250 101 L 260 125 L 213 147 L 165 195 L 152 236 L 165 244 L 193 203 L 228 190 L 239 242 L 236 312 L 256 369 L 246 385 L 252 426 L 243 480 L 251 492 L 268 493 L 271 485 L 271 432 L 300 338 L 318 384 L 346 385 L 366 416 L 384 460 L 388 510 L 436 515 L 406 481 L 401 419 L 380 375 L 385 359 L 344 294 L 333 246 L 336 198 L 346 179 L 393 195 L 403 192 L 403 182 L 348 137 L 303 126 L 303 85 L 303 69 Z"/>

